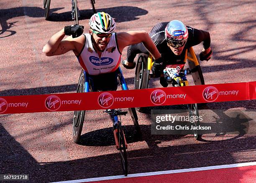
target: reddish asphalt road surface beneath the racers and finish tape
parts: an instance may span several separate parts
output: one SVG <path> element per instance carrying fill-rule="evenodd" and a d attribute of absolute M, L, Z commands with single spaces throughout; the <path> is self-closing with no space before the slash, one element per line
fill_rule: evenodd
<path fill-rule="evenodd" d="M 0 2 L 0 96 L 76 91 L 81 67 L 74 53 L 53 57 L 42 54 L 54 33 L 73 24 L 70 0 L 51 0 L 49 21 L 44 20 L 42 4 L 43 0 Z M 256 81 L 253 0 L 96 0 L 95 6 L 115 18 L 116 31 L 149 32 L 156 23 L 175 19 L 207 30 L 213 56 L 208 62 L 200 62 L 205 84 Z M 79 0 L 79 23 L 84 25 L 84 32 L 89 29 L 90 8 L 89 0 Z M 194 47 L 197 54 L 201 49 L 202 45 Z M 122 55 L 125 58 L 126 49 Z M 121 68 L 133 89 L 135 69 Z M 157 79 L 151 79 L 149 86 L 161 87 Z M 236 135 L 208 134 L 201 141 L 192 135 L 151 135 L 153 108 L 138 113 L 143 133 L 138 138 L 126 115 L 122 119 L 128 142 L 128 173 L 256 161 L 255 104 L 239 101 L 203 106 L 210 110 L 205 119 L 208 123 L 243 123 L 247 130 Z M 29 174 L 29 182 L 122 175 L 108 115 L 103 110 L 86 112 L 81 145 L 72 140 L 72 118 L 73 112 L 0 115 L 0 174 Z"/>

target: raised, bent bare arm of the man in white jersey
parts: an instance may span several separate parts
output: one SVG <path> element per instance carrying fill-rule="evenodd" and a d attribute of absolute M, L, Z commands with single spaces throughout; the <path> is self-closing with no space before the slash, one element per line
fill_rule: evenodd
<path fill-rule="evenodd" d="M 46 56 L 55 56 L 62 55 L 72 50 L 74 51 L 75 55 L 78 55 L 79 51 L 77 48 L 79 48 L 84 41 L 84 36 L 79 36 L 78 38 L 72 38 L 72 36 L 68 36 L 62 40 L 64 36 L 65 33 L 63 28 L 49 39 L 43 48 L 43 53 Z"/>

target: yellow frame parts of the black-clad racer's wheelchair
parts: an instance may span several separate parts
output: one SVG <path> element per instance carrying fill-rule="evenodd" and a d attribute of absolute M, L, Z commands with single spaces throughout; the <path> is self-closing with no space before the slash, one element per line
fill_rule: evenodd
<path fill-rule="evenodd" d="M 191 54 L 192 57 L 189 57 L 187 56 L 187 50 L 189 50 L 189 53 Z M 197 60 L 197 56 L 195 55 L 195 52 L 194 52 L 194 49 L 192 47 L 186 49 L 185 51 L 185 58 L 184 58 L 184 63 L 187 62 L 187 60 L 190 60 L 192 62 L 194 62 L 195 66 L 198 66 L 199 65 L 199 62 Z M 153 66 L 154 62 L 153 62 L 153 57 L 151 54 L 148 55 L 148 70 L 150 71 L 152 69 L 152 66 Z M 179 83 L 181 86 L 188 86 L 188 81 L 182 81 L 182 79 L 180 77 L 177 77 L 177 79 L 179 79 Z M 185 85 L 184 85 L 184 84 Z"/>

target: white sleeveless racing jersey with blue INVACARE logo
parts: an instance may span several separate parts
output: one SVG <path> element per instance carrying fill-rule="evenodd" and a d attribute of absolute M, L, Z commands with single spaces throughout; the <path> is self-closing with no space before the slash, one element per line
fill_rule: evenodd
<path fill-rule="evenodd" d="M 97 52 L 92 46 L 91 35 L 84 34 L 86 41 L 84 48 L 77 59 L 84 71 L 90 75 L 99 75 L 108 72 L 114 72 L 118 69 L 121 59 L 121 53 L 118 49 L 116 33 L 113 33 L 110 41 L 99 58 Z"/>

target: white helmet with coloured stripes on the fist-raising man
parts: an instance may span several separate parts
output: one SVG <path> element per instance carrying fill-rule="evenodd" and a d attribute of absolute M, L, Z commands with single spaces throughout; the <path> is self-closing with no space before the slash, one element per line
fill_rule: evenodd
<path fill-rule="evenodd" d="M 115 20 L 104 12 L 98 12 L 92 15 L 89 21 L 91 29 L 99 33 L 112 33 L 115 30 Z"/>

